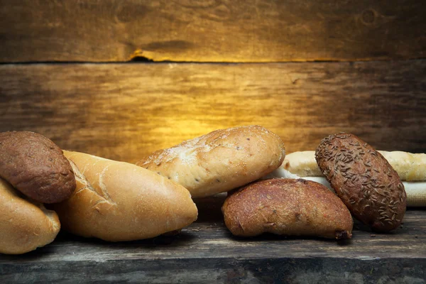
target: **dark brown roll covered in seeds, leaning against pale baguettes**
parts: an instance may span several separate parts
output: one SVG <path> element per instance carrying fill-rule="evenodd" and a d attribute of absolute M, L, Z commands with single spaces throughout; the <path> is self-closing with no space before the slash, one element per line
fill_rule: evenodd
<path fill-rule="evenodd" d="M 398 228 L 407 195 L 381 153 L 353 134 L 339 133 L 322 139 L 315 158 L 354 217 L 374 231 Z"/>

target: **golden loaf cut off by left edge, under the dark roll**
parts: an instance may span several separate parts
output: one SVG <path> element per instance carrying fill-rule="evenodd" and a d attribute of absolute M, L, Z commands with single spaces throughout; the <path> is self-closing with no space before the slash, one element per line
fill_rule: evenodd
<path fill-rule="evenodd" d="M 0 253 L 21 254 L 50 244 L 60 230 L 58 215 L 32 202 L 0 178 Z"/>

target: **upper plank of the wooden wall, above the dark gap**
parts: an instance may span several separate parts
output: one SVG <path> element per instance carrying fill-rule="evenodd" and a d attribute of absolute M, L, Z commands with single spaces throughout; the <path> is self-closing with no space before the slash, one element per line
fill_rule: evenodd
<path fill-rule="evenodd" d="M 422 1 L 0 0 L 0 62 L 422 58 Z"/>

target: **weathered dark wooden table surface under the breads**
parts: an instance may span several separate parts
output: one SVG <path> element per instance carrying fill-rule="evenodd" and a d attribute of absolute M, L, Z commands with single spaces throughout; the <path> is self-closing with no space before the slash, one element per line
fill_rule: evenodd
<path fill-rule="evenodd" d="M 198 200 L 178 236 L 109 243 L 60 233 L 50 245 L 0 256 L 1 283 L 425 283 L 426 211 L 408 209 L 391 234 L 355 222 L 349 241 L 263 235 L 224 226 L 223 196 Z"/>

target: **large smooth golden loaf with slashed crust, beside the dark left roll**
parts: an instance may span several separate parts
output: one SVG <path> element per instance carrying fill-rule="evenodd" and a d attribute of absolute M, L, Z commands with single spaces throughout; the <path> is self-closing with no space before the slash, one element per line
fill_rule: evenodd
<path fill-rule="evenodd" d="M 105 241 L 148 239 L 197 219 L 190 192 L 157 173 L 85 153 L 64 153 L 77 190 L 53 208 L 62 227 L 73 234 Z"/>

